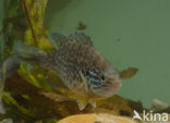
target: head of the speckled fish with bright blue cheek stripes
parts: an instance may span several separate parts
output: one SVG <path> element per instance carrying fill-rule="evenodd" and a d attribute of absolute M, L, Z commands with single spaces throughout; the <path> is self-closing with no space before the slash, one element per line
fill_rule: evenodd
<path fill-rule="evenodd" d="M 119 73 L 108 66 L 100 72 L 88 71 L 89 89 L 99 97 L 111 97 L 122 86 Z"/>

